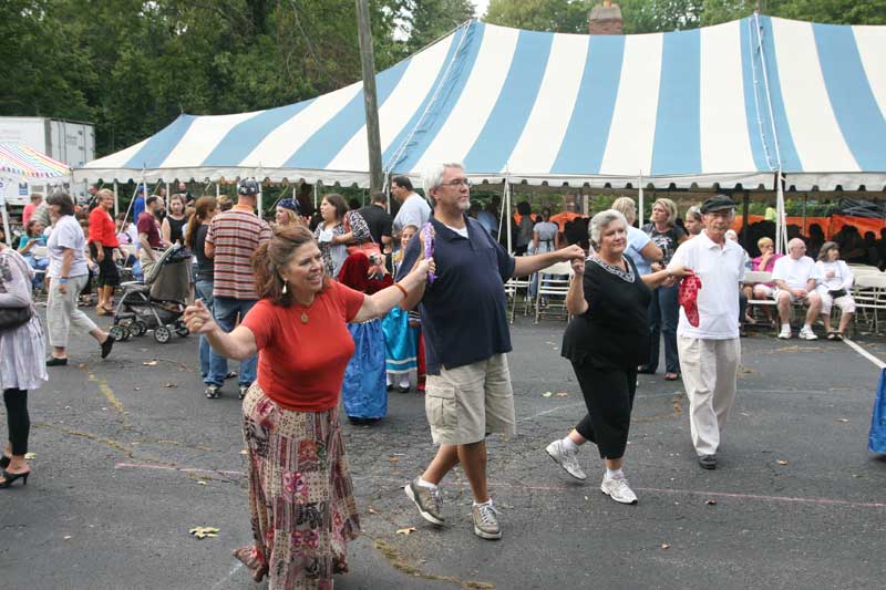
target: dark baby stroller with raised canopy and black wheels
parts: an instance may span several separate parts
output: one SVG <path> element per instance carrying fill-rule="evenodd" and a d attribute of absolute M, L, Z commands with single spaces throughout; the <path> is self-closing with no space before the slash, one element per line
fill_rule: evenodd
<path fill-rule="evenodd" d="M 189 266 L 190 251 L 176 244 L 159 256 L 145 273 L 144 282 L 122 283 L 123 297 L 114 310 L 111 337 L 120 342 L 153 330 L 154 340 L 161 344 L 169 341 L 173 331 L 186 337 L 188 331 L 182 317 L 190 288 Z"/>

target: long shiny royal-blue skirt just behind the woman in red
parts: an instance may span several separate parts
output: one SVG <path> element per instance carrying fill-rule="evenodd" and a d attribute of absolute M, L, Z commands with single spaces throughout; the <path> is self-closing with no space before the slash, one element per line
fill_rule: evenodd
<path fill-rule="evenodd" d="M 349 323 L 348 331 L 354 351 L 341 386 L 344 412 L 352 418 L 382 418 L 388 414 L 388 391 L 381 320 Z"/>

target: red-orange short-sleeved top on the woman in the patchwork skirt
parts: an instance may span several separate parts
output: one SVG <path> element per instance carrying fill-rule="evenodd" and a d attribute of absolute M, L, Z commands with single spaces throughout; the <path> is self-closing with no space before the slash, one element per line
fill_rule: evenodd
<path fill-rule="evenodd" d="M 284 308 L 262 299 L 249 310 L 243 324 L 256 337 L 258 384 L 268 397 L 298 412 L 336 406 L 354 350 L 346 324 L 360 311 L 363 297 L 330 281 L 310 307 Z"/>

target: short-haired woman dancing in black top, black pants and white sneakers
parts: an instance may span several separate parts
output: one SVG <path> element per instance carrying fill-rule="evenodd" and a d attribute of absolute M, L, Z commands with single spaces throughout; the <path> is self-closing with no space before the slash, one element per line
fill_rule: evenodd
<path fill-rule="evenodd" d="M 628 222 L 609 209 L 590 220 L 590 241 L 597 252 L 573 262 L 575 280 L 566 296 L 573 321 L 563 337 L 563 356 L 578 377 L 588 413 L 563 439 L 545 449 L 576 479 L 587 476 L 578 464 L 578 447 L 593 441 L 606 464 L 600 490 L 621 504 L 637 496 L 621 472 L 630 412 L 637 389 L 637 366 L 649 355 L 647 309 L 651 289 L 674 284 L 687 275 L 680 267 L 640 277 L 626 256 Z"/>

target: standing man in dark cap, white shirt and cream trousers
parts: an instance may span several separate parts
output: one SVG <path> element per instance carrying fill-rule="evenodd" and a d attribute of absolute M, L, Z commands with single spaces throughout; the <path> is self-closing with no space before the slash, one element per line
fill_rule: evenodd
<path fill-rule="evenodd" d="M 717 195 L 701 206 L 704 229 L 677 248 L 668 268 L 683 266 L 701 280 L 698 325 L 680 308 L 677 348 L 689 397 L 692 446 L 703 469 L 717 468 L 720 431 L 725 426 L 741 359 L 739 283 L 744 280 L 744 249 L 725 238 L 735 204 Z"/>

